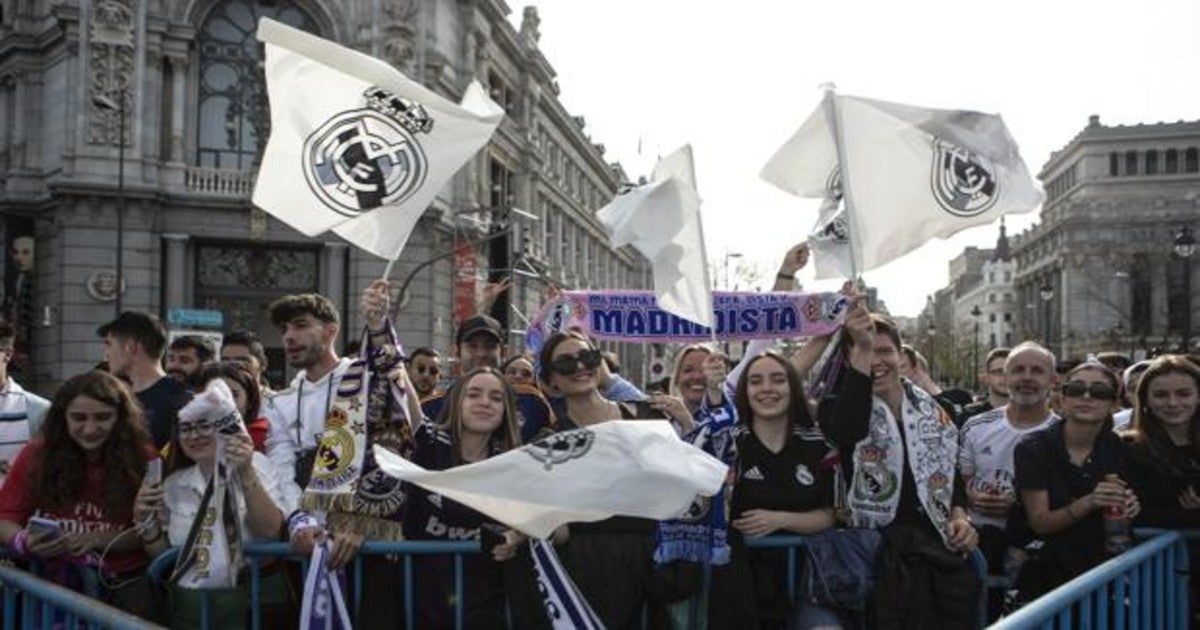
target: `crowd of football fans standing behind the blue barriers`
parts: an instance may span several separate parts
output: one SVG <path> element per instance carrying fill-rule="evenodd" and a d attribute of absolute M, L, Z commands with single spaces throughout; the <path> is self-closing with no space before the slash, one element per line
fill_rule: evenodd
<path fill-rule="evenodd" d="M 803 244 L 785 254 L 776 290 L 806 258 Z M 229 536 L 286 540 L 298 553 L 331 542 L 335 569 L 367 539 L 480 540 L 485 552 L 464 564 L 467 626 L 548 628 L 524 536 L 502 523 L 389 482 L 372 456 L 355 494 L 313 503 L 306 488 L 330 457 L 320 436 L 344 421 L 335 400 L 367 372 L 367 443 L 427 469 L 614 419 L 666 420 L 730 466 L 730 553 L 707 586 L 696 563 L 654 562 L 654 521 L 614 516 L 554 533 L 571 580 L 613 629 L 971 628 L 984 588 L 968 558 L 976 548 L 1010 584 L 989 599 L 995 619 L 1120 552 L 1112 521 L 1200 524 L 1200 367 L 1189 356 L 1068 364 L 1024 342 L 988 353 L 973 396 L 942 389 L 895 324 L 851 293 L 835 336 L 791 355 L 754 342 L 737 365 L 686 346 L 665 391 L 646 392 L 576 331 L 554 334 L 536 358 L 505 356 L 502 326 L 485 314 L 503 286 L 485 290 L 450 353 L 406 353 L 385 317 L 389 290 L 378 281 L 362 295 L 356 356 L 337 354 L 341 317 L 328 299 L 276 301 L 270 317 L 296 371 L 278 391 L 256 335 L 228 334 L 220 353 L 193 336 L 168 347 L 155 317 L 126 312 L 97 331 L 101 368 L 46 401 L 6 373 L 13 332 L 0 325 L 0 542 L 12 562 L 148 619 L 197 626 L 197 592 L 151 581 L 146 568 L 187 542 L 209 480 L 228 468 Z M 818 362 L 840 367 L 818 374 Z M 812 396 L 818 378 L 828 386 Z M 212 388 L 235 402 L 240 421 L 228 434 L 190 404 Z M 842 529 L 877 538 L 859 605 L 790 592 L 786 553 L 746 546 Z M 232 570 L 246 571 L 239 563 Z M 295 624 L 298 571 L 280 563 L 266 574 L 274 619 Z M 452 625 L 455 568 L 439 556 L 419 558 L 412 574 L 394 558 L 364 558 L 356 625 L 402 628 L 406 578 L 418 626 Z M 247 624 L 248 581 L 238 584 L 210 593 L 218 626 Z M 683 617 L 684 606 L 703 619 Z"/>

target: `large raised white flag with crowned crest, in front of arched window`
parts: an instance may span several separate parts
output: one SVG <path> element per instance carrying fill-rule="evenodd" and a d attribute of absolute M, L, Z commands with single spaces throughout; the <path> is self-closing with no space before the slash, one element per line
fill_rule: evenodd
<path fill-rule="evenodd" d="M 455 104 L 388 64 L 263 18 L 271 138 L 254 205 L 394 259 L 504 110 L 473 82 Z"/>

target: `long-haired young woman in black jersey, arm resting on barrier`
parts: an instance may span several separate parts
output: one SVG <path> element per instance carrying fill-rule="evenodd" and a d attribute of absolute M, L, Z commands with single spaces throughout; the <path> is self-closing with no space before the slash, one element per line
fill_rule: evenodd
<path fill-rule="evenodd" d="M 857 408 L 865 416 L 870 409 L 865 377 L 844 379 L 836 395 L 844 404 L 827 406 L 829 414 Z M 748 550 L 743 542 L 774 533 L 816 534 L 835 526 L 835 492 L 841 479 L 836 448 L 809 413 L 800 373 L 775 353 L 750 360 L 738 379 L 734 406 L 732 557 L 730 564 L 714 570 L 709 625 L 838 626 L 835 611 L 812 605 L 792 610 L 786 552 Z M 858 421 L 865 422 L 865 418 Z"/>

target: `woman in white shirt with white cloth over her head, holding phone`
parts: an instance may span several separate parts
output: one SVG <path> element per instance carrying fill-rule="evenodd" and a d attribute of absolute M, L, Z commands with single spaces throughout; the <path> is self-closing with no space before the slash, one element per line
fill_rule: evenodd
<path fill-rule="evenodd" d="M 221 385 L 224 385 L 224 380 L 220 378 L 209 382 L 210 390 Z M 275 540 L 283 527 L 281 506 L 284 498 L 270 460 L 254 450 L 253 439 L 241 421 L 240 409 L 233 425 L 228 430 L 221 428 L 218 434 L 218 418 L 224 415 L 226 409 L 210 403 L 212 396 L 214 392 L 206 390 L 180 410 L 163 470 L 166 479 L 161 485 L 143 484 L 138 492 L 134 516 L 139 522 L 151 523 L 142 536 L 148 553 L 158 554 L 168 546 L 180 546 L 188 540 L 217 466 L 220 444 L 223 444 L 226 466 L 234 470 L 226 481 L 236 484 L 238 492 L 233 493 L 232 504 L 238 511 L 235 521 L 240 528 L 240 539 Z M 227 396 L 233 397 L 228 388 L 215 395 L 226 403 L 233 402 Z M 202 562 L 208 560 L 199 559 L 198 564 Z M 229 568 L 233 571 L 241 569 Z M 196 574 L 184 575 L 170 589 L 172 628 L 200 625 L 200 606 L 204 604 L 200 590 L 187 583 L 192 575 Z M 246 624 L 250 580 L 238 580 L 238 583 L 239 587 L 229 589 L 204 589 L 211 599 L 210 614 L 214 616 L 216 626 L 238 628 Z"/>

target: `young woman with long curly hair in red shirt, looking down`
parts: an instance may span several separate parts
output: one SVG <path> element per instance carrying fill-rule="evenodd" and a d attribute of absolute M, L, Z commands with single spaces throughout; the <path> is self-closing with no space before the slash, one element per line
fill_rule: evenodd
<path fill-rule="evenodd" d="M 149 558 L 133 530 L 133 502 L 155 457 L 142 407 L 106 372 L 67 379 L 41 432 L 22 449 L 0 488 L 0 541 L 19 556 L 44 560 L 61 584 L 100 562 L 102 598 L 154 618 L 144 570 Z M 43 533 L 31 518 L 58 523 Z"/>

